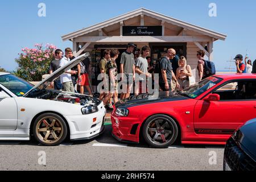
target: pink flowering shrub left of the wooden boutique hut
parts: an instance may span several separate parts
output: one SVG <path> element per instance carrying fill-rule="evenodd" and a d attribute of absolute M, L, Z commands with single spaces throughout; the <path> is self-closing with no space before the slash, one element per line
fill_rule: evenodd
<path fill-rule="evenodd" d="M 54 59 L 56 46 L 35 44 L 35 48 L 23 48 L 19 58 L 15 59 L 19 67 L 15 75 L 27 81 L 41 81 L 42 76 L 49 73 L 49 65 Z"/>

